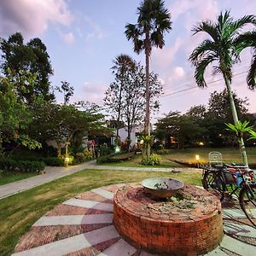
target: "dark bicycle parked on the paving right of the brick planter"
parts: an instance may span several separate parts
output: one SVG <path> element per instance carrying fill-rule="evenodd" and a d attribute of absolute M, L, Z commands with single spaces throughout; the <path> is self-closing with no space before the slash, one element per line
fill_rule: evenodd
<path fill-rule="evenodd" d="M 253 170 L 247 166 L 203 166 L 202 185 L 217 195 L 220 201 L 230 197 L 239 200 L 242 211 L 256 226 L 256 181 Z"/>

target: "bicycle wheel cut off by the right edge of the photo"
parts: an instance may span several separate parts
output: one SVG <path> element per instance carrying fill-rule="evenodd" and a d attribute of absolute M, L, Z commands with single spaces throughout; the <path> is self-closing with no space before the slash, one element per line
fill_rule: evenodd
<path fill-rule="evenodd" d="M 239 203 L 248 220 L 256 226 L 256 184 L 241 189 Z"/>

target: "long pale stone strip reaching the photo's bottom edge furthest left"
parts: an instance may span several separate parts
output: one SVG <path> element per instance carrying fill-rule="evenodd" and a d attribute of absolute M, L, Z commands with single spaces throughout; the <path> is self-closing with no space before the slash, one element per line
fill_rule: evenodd
<path fill-rule="evenodd" d="M 67 253 L 73 253 L 87 247 L 96 245 L 102 241 L 119 237 L 114 226 L 104 227 L 93 230 L 78 236 L 73 236 L 60 241 L 54 241 L 44 246 L 34 247 L 32 249 L 14 253 L 13 256 L 61 256 Z"/>

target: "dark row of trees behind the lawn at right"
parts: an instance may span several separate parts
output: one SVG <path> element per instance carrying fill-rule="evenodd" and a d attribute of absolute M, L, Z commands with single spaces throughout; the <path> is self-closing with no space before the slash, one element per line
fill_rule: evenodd
<path fill-rule="evenodd" d="M 239 118 L 255 125 L 255 116 L 247 113 L 247 99 L 233 95 Z M 194 106 L 183 114 L 178 111 L 166 113 L 155 124 L 154 136 L 165 143 L 166 148 L 235 147 L 236 135 L 225 125 L 233 119 L 229 101 L 227 90 L 214 91 L 207 105 Z M 253 141 L 246 143 L 253 145 Z"/>

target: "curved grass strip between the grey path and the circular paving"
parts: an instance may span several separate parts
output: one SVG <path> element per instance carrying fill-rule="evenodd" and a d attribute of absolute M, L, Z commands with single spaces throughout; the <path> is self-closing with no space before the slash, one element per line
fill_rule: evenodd
<path fill-rule="evenodd" d="M 201 184 L 200 173 L 84 170 L 0 201 L 0 255 L 13 253 L 15 244 L 45 212 L 81 192 L 112 183 L 131 183 L 147 177 L 173 177 Z"/>

